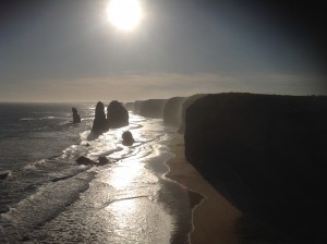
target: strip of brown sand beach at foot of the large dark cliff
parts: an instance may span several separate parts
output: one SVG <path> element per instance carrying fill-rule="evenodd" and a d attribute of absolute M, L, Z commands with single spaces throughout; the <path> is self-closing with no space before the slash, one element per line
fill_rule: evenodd
<path fill-rule="evenodd" d="M 186 161 L 183 135 L 177 134 L 169 147 L 175 157 L 167 162 L 170 171 L 166 176 L 204 196 L 201 204 L 193 208 L 191 244 L 239 243 L 237 222 L 241 212 Z M 192 202 L 192 197 L 190 197 L 190 202 Z"/>

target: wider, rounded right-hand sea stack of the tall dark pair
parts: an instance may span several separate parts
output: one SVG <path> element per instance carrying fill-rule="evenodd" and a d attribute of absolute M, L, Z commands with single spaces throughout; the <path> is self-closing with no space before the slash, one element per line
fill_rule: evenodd
<path fill-rule="evenodd" d="M 107 108 L 107 121 L 112 129 L 126 126 L 129 125 L 129 112 L 121 102 L 113 100 Z"/>

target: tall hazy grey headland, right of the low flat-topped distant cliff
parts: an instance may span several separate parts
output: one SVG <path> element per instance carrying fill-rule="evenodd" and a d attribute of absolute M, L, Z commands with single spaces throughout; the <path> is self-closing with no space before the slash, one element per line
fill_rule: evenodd
<path fill-rule="evenodd" d="M 182 106 L 185 97 L 173 97 L 167 100 L 164 108 L 165 125 L 180 126 L 182 121 Z"/>

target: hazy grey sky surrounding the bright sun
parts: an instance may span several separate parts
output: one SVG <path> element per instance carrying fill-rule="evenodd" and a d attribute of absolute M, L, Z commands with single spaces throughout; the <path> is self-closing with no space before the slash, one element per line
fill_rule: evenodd
<path fill-rule="evenodd" d="M 142 21 L 124 33 L 109 0 L 1 1 L 0 101 L 327 95 L 318 1 L 140 2 Z"/>

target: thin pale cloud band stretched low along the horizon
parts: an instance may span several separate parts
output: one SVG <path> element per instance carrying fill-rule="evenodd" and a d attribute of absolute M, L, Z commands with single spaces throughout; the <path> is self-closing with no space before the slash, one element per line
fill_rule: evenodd
<path fill-rule="evenodd" d="M 199 93 L 326 95 L 324 77 L 295 74 L 148 73 L 106 77 L 10 82 L 1 100 L 9 101 L 133 101 L 191 96 Z"/>

